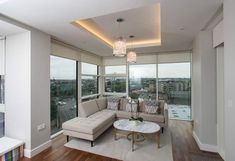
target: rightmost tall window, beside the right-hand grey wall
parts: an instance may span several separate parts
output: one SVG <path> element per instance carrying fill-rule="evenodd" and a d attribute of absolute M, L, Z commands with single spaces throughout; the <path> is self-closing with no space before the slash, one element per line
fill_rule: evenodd
<path fill-rule="evenodd" d="M 191 119 L 191 63 L 158 64 L 158 99 L 169 104 L 169 117 Z"/>

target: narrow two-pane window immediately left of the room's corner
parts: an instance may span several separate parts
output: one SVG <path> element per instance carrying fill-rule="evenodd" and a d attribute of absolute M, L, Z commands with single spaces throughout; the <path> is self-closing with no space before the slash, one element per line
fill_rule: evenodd
<path fill-rule="evenodd" d="M 82 101 L 99 95 L 99 66 L 82 62 Z"/>

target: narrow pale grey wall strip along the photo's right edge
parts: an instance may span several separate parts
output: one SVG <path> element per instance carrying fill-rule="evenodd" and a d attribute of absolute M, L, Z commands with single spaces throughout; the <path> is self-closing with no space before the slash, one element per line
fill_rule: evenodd
<path fill-rule="evenodd" d="M 224 1 L 225 159 L 235 160 L 235 1 Z"/>

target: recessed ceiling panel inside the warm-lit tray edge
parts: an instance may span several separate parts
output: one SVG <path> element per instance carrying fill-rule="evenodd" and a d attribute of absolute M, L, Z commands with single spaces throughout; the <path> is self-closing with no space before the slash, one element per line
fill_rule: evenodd
<path fill-rule="evenodd" d="M 123 36 L 128 41 L 128 37 L 134 35 L 135 38 L 132 41 L 141 41 L 158 38 L 158 13 L 158 6 L 151 5 L 94 17 L 92 20 L 112 40 Z M 120 27 L 116 22 L 118 18 L 124 18 L 124 22 L 120 23 Z"/>

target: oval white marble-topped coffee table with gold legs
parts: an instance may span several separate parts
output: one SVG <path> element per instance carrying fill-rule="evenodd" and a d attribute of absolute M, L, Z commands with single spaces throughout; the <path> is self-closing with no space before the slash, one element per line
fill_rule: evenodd
<path fill-rule="evenodd" d="M 137 134 L 156 134 L 158 148 L 160 148 L 160 126 L 157 123 L 143 121 L 135 122 L 128 119 L 117 120 L 113 123 L 115 128 L 114 138 L 117 140 L 117 130 L 130 132 L 132 141 L 132 151 L 134 151 L 134 144 L 137 142 Z"/>

